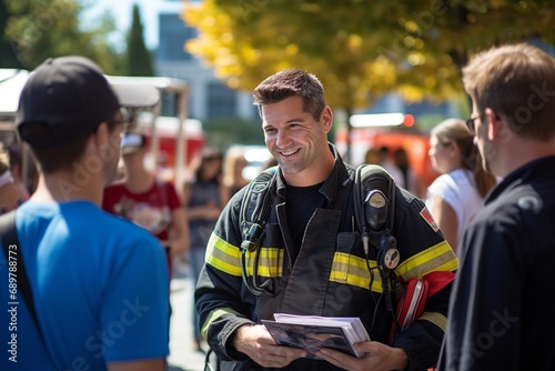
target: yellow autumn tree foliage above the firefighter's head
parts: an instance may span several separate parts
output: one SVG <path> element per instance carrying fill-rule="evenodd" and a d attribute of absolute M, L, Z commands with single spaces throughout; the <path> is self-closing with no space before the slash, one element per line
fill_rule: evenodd
<path fill-rule="evenodd" d="M 477 50 L 555 41 L 551 0 L 204 0 L 185 1 L 183 17 L 199 30 L 188 50 L 231 88 L 297 67 L 347 112 L 392 91 L 408 101 L 461 96 L 461 67 Z"/>

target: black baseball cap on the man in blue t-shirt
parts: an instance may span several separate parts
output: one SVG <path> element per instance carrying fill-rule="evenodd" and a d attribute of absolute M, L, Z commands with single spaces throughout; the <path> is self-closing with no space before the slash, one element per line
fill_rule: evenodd
<path fill-rule="evenodd" d="M 93 133 L 119 109 L 99 66 L 79 56 L 51 58 L 23 87 L 16 126 L 23 141 L 48 148 Z"/>

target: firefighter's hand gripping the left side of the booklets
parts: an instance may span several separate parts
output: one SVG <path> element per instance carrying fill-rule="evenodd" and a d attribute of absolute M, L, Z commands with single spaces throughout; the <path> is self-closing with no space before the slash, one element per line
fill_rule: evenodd
<path fill-rule="evenodd" d="M 283 368 L 299 358 L 306 357 L 303 349 L 282 347 L 262 324 L 244 324 L 235 331 L 233 347 L 265 368 Z"/>

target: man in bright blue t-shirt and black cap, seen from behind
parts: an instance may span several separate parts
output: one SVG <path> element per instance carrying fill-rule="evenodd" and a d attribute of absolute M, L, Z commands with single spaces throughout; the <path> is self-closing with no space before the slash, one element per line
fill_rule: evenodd
<path fill-rule="evenodd" d="M 8 261 L 0 253 L 0 370 L 164 370 L 163 250 L 99 207 L 124 130 L 114 91 L 85 58 L 49 59 L 23 88 L 16 126 L 41 174 L 16 212 L 19 244 Z M 22 275 L 10 270 L 12 253 L 24 262 L 38 327 L 21 290 L 9 290 Z"/>

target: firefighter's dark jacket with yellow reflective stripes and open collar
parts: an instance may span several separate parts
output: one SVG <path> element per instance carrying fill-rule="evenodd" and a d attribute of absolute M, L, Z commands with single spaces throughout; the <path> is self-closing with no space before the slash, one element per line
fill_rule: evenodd
<path fill-rule="evenodd" d="M 375 269 L 376 249 L 371 247 L 366 261 L 361 233 L 353 227 L 354 168 L 342 161 L 332 144 L 330 148 L 336 161 L 320 188 L 326 207 L 312 214 L 294 261 L 289 253 L 292 241 L 287 235 L 285 183 L 280 171 L 273 179 L 265 234 L 258 257 L 246 252 L 244 272 L 246 279 L 266 282 L 268 293 L 254 295 L 243 282 L 240 208 L 244 188 L 230 200 L 216 223 L 206 247 L 195 303 L 202 334 L 224 361 L 224 369 L 262 369 L 231 347 L 231 337 L 239 327 L 271 320 L 276 312 L 359 317 L 372 340 L 389 343 L 393 315 L 386 310 L 385 300 L 380 300 L 383 292 Z M 395 192 L 393 235 L 401 257 L 394 270 L 397 281 L 431 272 L 454 272 L 458 267 L 456 255 L 424 203 L 400 188 Z M 253 278 L 254 261 L 258 264 Z M 451 283 L 430 297 L 420 319 L 390 343 L 406 352 L 411 370 L 435 364 L 447 322 L 450 293 Z M 286 369 L 336 368 L 321 360 L 300 359 Z"/>

